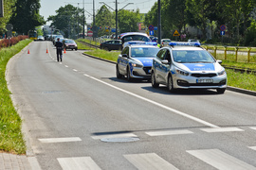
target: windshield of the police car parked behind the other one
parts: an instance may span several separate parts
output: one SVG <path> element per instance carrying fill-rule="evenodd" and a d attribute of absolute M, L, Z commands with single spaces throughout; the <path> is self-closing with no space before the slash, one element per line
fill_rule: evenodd
<path fill-rule="evenodd" d="M 155 58 L 158 48 L 155 47 L 134 47 L 132 48 L 132 58 Z"/>

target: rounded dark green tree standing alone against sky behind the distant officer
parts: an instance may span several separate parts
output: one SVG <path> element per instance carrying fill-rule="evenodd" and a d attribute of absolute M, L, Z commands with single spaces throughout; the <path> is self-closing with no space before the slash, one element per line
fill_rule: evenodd
<path fill-rule="evenodd" d="M 78 35 L 78 33 L 82 31 L 82 11 L 82 8 L 75 8 L 74 6 L 68 4 L 57 9 L 57 15 L 49 16 L 47 21 L 52 21 L 50 26 L 54 27 L 54 29 L 59 29 L 61 32 L 64 32 L 66 37 L 75 34 Z"/>

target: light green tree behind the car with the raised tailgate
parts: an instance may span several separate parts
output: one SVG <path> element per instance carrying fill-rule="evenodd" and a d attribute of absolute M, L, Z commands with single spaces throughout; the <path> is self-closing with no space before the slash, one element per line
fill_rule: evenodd
<path fill-rule="evenodd" d="M 138 30 L 137 24 L 141 21 L 139 10 L 136 12 L 129 10 L 119 10 L 119 30 L 120 32 L 133 32 Z"/>

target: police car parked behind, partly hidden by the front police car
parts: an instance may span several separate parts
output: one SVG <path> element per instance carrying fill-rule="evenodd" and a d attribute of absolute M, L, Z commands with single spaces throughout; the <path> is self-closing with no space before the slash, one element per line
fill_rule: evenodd
<path fill-rule="evenodd" d="M 156 45 L 155 42 L 129 42 L 117 60 L 117 77 L 127 76 L 128 81 L 133 78 L 150 79 L 152 61 L 159 51 Z"/>

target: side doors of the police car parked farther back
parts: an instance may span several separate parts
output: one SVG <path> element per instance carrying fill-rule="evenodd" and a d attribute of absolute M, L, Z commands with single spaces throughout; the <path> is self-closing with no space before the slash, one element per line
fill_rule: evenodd
<path fill-rule="evenodd" d="M 129 64 L 129 46 L 126 46 L 119 55 L 119 72 L 126 75 L 126 68 Z"/>

